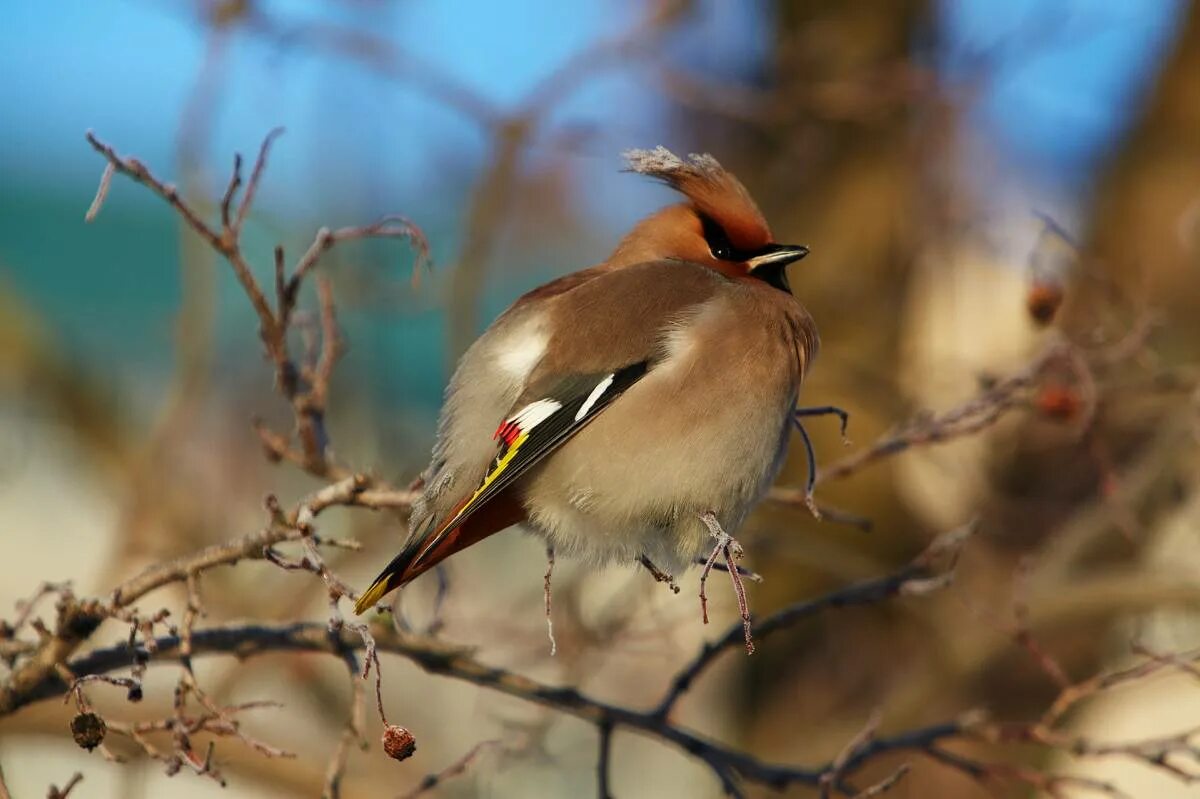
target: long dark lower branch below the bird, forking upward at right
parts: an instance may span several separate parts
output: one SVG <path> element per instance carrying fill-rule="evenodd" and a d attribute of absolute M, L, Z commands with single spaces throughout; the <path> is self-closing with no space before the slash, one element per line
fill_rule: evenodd
<path fill-rule="evenodd" d="M 962 531 L 949 534 L 914 559 L 910 566 L 886 578 L 872 583 L 851 585 L 832 591 L 817 600 L 785 608 L 764 619 L 758 625 L 758 635 L 763 637 L 785 626 L 793 626 L 822 609 L 872 603 L 898 594 L 922 594 L 944 587 L 947 582 L 937 578 L 936 569 L 938 564 L 944 565 L 946 560 L 953 564 L 954 553 L 961 546 L 964 535 L 965 533 Z M 740 625 L 734 625 L 722 641 L 718 642 L 716 650 L 732 648 L 740 641 Z M 598 726 L 608 725 L 611 729 L 620 727 L 637 734 L 658 738 L 701 759 L 721 780 L 722 785 L 726 785 L 732 791 L 737 791 L 737 781 L 740 780 L 773 788 L 782 788 L 792 783 L 820 787 L 822 779 L 826 783 L 836 782 L 827 776 L 835 765 L 840 769 L 844 775 L 842 781 L 845 781 L 880 755 L 895 751 L 911 751 L 924 755 L 960 770 L 972 776 L 972 779 L 982 781 L 1000 780 L 1016 781 L 1022 785 L 1042 785 L 1051 780 L 1051 776 L 1040 771 L 1008 770 L 1002 765 L 950 755 L 941 747 L 943 741 L 956 738 L 997 744 L 1032 743 L 1052 749 L 1069 747 L 1069 751 L 1087 757 L 1123 756 L 1152 762 L 1158 752 L 1165 750 L 1170 750 L 1171 752 L 1186 751 L 1183 749 L 1184 738 L 1172 737 L 1170 739 L 1152 741 L 1098 744 L 1086 739 L 1068 740 L 1054 731 L 1052 727 L 1067 710 L 1097 691 L 1128 684 L 1166 668 L 1178 668 L 1180 663 L 1190 663 L 1194 668 L 1194 662 L 1200 657 L 1198 653 L 1186 653 L 1172 657 L 1156 656 L 1136 667 L 1080 684 L 1074 689 L 1064 691 L 1061 699 L 1045 715 L 1030 725 L 990 723 L 978 715 L 967 715 L 952 722 L 911 729 L 894 735 L 866 737 L 860 745 L 854 747 L 852 755 L 839 758 L 836 764 L 829 763 L 816 768 L 798 768 L 764 763 L 745 752 L 697 737 L 695 733 L 670 721 L 668 713 L 671 707 L 690 686 L 691 679 L 704 666 L 712 662 L 714 655 L 710 654 L 713 650 L 709 648 L 706 648 L 702 659 L 698 661 L 698 666 L 694 665 L 689 669 L 685 669 L 690 677 L 684 678 L 683 681 L 677 679 L 672 684 L 665 701 L 659 707 L 648 711 L 637 711 L 600 702 L 575 689 L 541 684 L 503 668 L 486 666 L 474 659 L 469 654 L 469 650 L 443 643 L 436 638 L 403 635 L 386 627 L 376 629 L 374 636 L 370 643 L 362 636 L 348 629 L 331 636 L 328 626 L 311 623 L 274 626 L 251 624 L 210 627 L 193 632 L 191 656 L 233 654 L 246 659 L 265 653 L 317 651 L 344 659 L 347 651 L 359 648 L 370 650 L 371 647 L 377 647 L 380 651 L 404 656 L 433 674 L 466 680 L 528 702 L 542 704 Z M 148 649 L 152 649 L 154 651 L 151 655 L 154 662 L 166 662 L 178 660 L 181 656 L 181 637 L 174 635 L 160 637 Z M 120 645 L 100 649 L 77 657 L 70 661 L 68 668 L 76 674 L 86 675 L 124 668 L 127 663 L 127 648 Z M 28 697 L 28 699 L 46 698 L 47 696 L 61 693 L 64 690 L 65 687 L 61 684 L 58 686 L 46 684 L 40 686 L 38 691 Z M 131 729 L 130 732 L 137 733 L 140 731 Z M 1159 764 L 1159 768 L 1165 767 Z M 889 777 L 889 780 L 892 779 Z M 1069 781 L 1069 777 L 1052 776 L 1052 780 L 1055 783 L 1063 783 L 1064 781 Z M 884 782 L 887 783 L 887 781 Z M 836 785 L 834 787 L 839 791 L 842 789 Z M 842 791 L 842 793 L 845 794 L 846 791 Z M 877 795 L 877 793 L 878 791 L 874 795 Z M 872 794 L 868 793 L 866 795 Z"/>

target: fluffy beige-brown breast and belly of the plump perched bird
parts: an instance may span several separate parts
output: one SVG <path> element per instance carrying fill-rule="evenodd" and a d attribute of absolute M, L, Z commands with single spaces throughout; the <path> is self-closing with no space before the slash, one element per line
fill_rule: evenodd
<path fill-rule="evenodd" d="M 744 312 L 716 301 L 665 328 L 650 372 L 538 467 L 524 494 L 544 531 L 636 539 L 707 510 L 740 524 L 781 465 L 799 388 L 788 325 L 745 328 Z"/>

